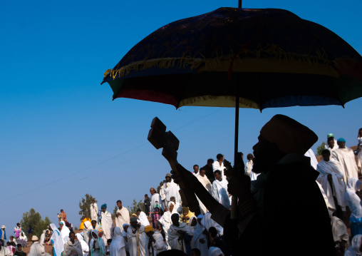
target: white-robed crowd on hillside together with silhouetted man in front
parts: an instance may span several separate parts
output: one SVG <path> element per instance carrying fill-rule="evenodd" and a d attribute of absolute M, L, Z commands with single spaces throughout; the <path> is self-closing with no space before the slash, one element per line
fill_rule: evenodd
<path fill-rule="evenodd" d="M 179 165 L 181 172 L 167 173 L 160 188 L 150 188 L 144 211 L 131 215 L 118 200 L 113 223 L 107 205 L 98 210 L 92 200 L 90 218 L 83 218 L 83 230 L 76 234 L 61 210 L 58 227 L 49 225 L 40 240 L 29 237 L 33 242 L 29 254 L 46 255 L 46 243 L 53 245 L 54 256 L 264 255 L 283 237 L 284 250 L 301 249 L 294 255 L 305 255 L 307 250 L 296 247 L 301 245 L 299 238 L 310 232 L 319 236 L 321 248 L 309 255 L 361 255 L 362 128 L 355 151 L 346 147 L 345 139 L 336 140 L 329 133 L 320 161 L 311 150 L 317 140 L 313 131 L 286 116 L 274 116 L 258 139 L 254 154 L 247 154 L 244 175 L 225 173 L 221 153 L 201 168 L 193 165 L 192 172 Z M 195 213 L 182 203 L 175 182 L 180 178 L 197 195 L 200 207 Z M 288 179 L 306 188 L 289 185 Z M 237 220 L 230 217 L 234 196 L 238 198 Z M 300 213 L 301 209 L 309 214 Z M 286 230 L 298 242 L 291 244 Z M 1 229 L 4 256 L 25 256 L 19 223 L 15 234 L 4 247 L 6 234 Z"/>

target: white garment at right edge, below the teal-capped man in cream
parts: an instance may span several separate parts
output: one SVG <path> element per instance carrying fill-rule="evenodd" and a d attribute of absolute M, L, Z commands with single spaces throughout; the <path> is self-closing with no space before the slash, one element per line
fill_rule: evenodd
<path fill-rule="evenodd" d="M 356 194 L 356 191 L 359 190 L 361 186 L 361 180 L 357 178 L 350 178 L 348 180 L 347 190 L 343 195 L 343 202 L 348 205 L 348 208 L 351 210 L 351 216 L 356 219 L 362 217 L 362 206 L 361 199 Z"/>

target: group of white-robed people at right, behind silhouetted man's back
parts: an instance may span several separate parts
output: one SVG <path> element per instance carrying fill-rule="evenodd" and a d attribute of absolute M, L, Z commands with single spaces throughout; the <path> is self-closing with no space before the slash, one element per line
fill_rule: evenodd
<path fill-rule="evenodd" d="M 358 143 L 361 141 L 361 135 L 360 129 Z M 361 150 L 360 144 L 358 150 Z M 344 222 L 349 221 L 351 237 L 362 235 L 362 206 L 358 195 L 361 186 L 358 178 L 361 174 L 358 167 L 359 160 L 356 161 L 356 153 L 346 147 L 346 140 L 344 138 L 336 140 L 333 133 L 327 135 L 327 144 L 321 155 L 321 161 L 314 166 L 319 172 L 316 181 L 331 217 L 334 242 L 336 247 L 341 247 L 344 251 L 348 249 L 350 241 Z M 344 220 L 346 208 L 351 211 L 349 220 Z"/>

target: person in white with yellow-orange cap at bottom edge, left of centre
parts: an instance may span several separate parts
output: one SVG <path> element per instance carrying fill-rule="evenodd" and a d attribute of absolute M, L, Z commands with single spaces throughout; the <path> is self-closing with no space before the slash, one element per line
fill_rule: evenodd
<path fill-rule="evenodd" d="M 156 256 L 158 253 L 167 250 L 162 234 L 159 230 L 154 230 L 152 225 L 145 226 L 147 235 L 146 256 Z"/>

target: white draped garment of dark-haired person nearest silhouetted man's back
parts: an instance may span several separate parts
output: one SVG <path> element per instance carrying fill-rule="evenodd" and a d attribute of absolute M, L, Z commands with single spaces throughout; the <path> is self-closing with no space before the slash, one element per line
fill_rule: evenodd
<path fill-rule="evenodd" d="M 337 199 L 338 205 L 341 206 L 343 211 L 345 211 L 346 205 L 343 203 L 343 194 L 346 191 L 346 183 L 344 182 L 344 173 L 341 170 L 339 162 L 333 158 L 330 158 L 329 161 L 322 159 L 321 162 L 318 163 L 316 170 L 319 171 L 319 176 L 316 180 L 321 184 L 328 200 L 334 205 L 334 195 Z M 332 176 L 333 189 L 328 181 L 329 174 Z M 334 210 L 330 210 L 335 212 L 336 207 Z"/>

